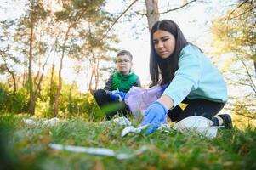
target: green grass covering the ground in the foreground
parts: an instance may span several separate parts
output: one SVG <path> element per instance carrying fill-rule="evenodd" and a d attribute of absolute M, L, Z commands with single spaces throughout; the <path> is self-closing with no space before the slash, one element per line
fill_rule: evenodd
<path fill-rule="evenodd" d="M 134 122 L 135 124 L 137 122 Z M 0 169 L 256 169 L 256 129 L 219 130 L 216 139 L 156 131 L 128 134 L 116 124 L 71 120 L 55 127 L 27 125 L 0 116 Z M 147 150 L 129 159 L 51 150 L 48 144 L 108 148 L 117 153 Z"/>

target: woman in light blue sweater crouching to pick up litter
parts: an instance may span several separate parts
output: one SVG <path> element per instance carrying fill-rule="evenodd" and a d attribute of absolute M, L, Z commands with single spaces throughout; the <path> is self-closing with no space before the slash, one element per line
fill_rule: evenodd
<path fill-rule="evenodd" d="M 217 115 L 228 97 L 225 80 L 209 59 L 187 42 L 173 20 L 157 21 L 151 29 L 151 86 L 168 83 L 162 96 L 147 111 L 142 126 L 153 133 L 166 120 L 179 122 L 188 116 L 204 116 L 214 126 L 232 127 L 229 115 Z M 185 103 L 185 110 L 179 107 Z"/>

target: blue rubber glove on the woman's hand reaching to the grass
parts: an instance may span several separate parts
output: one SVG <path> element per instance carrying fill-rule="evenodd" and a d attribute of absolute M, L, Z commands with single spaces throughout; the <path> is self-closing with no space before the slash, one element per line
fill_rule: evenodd
<path fill-rule="evenodd" d="M 141 123 L 141 126 L 150 124 L 150 127 L 146 131 L 146 135 L 155 132 L 162 123 L 166 122 L 167 113 L 168 111 L 165 106 L 158 101 L 150 105 L 150 107 L 145 111 L 144 119 Z"/>

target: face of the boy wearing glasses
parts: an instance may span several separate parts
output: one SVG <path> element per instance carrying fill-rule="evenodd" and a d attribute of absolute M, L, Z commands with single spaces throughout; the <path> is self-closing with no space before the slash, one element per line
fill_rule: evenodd
<path fill-rule="evenodd" d="M 121 71 L 123 75 L 128 75 L 132 67 L 132 61 L 128 55 L 117 56 L 117 71 Z"/>

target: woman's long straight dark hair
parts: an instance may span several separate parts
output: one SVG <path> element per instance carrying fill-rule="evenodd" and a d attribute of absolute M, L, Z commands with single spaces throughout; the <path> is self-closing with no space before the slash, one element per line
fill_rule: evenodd
<path fill-rule="evenodd" d="M 167 59 L 162 59 L 155 49 L 153 43 L 153 34 L 157 30 L 168 31 L 175 37 L 174 53 Z M 174 78 L 175 71 L 178 70 L 179 54 L 182 48 L 184 48 L 189 42 L 185 40 L 185 37 L 180 30 L 179 26 L 173 20 L 161 20 L 157 21 L 151 29 L 151 56 L 150 56 L 150 73 L 151 73 L 151 86 L 165 84 L 171 82 Z M 160 72 L 159 72 L 160 71 Z M 159 75 L 161 74 L 161 80 Z M 150 86 L 150 87 L 151 87 Z"/>

